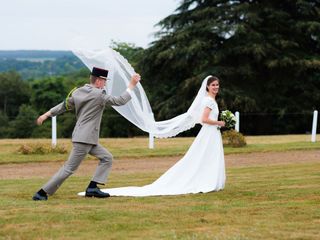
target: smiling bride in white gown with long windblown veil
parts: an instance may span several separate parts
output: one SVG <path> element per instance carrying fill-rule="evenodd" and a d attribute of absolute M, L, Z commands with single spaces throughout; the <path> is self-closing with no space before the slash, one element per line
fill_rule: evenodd
<path fill-rule="evenodd" d="M 118 95 L 123 91 L 135 71 L 118 52 L 77 49 L 73 51 L 90 69 L 93 66 L 110 70 L 106 91 Z M 201 84 L 197 96 L 188 111 L 166 121 L 155 121 L 148 98 L 138 84 L 132 99 L 126 105 L 114 109 L 140 129 L 158 138 L 173 137 L 180 132 L 202 124 L 202 128 L 186 154 L 156 181 L 142 187 L 130 186 L 101 189 L 111 196 L 157 196 L 219 191 L 225 184 L 224 153 L 218 121 L 219 109 L 216 96 L 219 79 L 208 76 Z M 84 192 L 79 193 L 84 196 Z"/>

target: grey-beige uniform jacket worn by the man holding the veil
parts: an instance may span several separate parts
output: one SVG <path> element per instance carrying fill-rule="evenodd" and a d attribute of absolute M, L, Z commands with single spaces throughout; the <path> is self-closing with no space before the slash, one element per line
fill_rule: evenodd
<path fill-rule="evenodd" d="M 50 109 L 52 116 L 57 116 L 67 110 L 75 109 L 77 123 L 72 133 L 72 142 L 98 144 L 100 123 L 103 110 L 108 105 L 120 106 L 131 99 L 131 90 L 127 89 L 121 96 L 107 95 L 105 90 L 86 84 L 78 88 L 68 98 Z M 68 109 L 67 109 L 68 108 Z"/>

